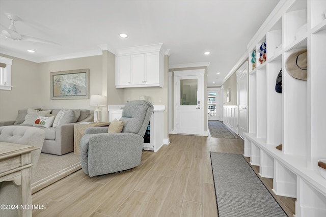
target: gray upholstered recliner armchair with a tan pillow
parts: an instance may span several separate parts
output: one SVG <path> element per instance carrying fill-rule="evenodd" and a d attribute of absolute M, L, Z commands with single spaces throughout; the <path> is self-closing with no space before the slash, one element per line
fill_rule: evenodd
<path fill-rule="evenodd" d="M 129 101 L 120 118 L 124 123 L 121 133 L 109 134 L 108 127 L 86 129 L 80 139 L 83 171 L 92 177 L 140 165 L 144 135 L 153 109 L 148 101 Z"/>

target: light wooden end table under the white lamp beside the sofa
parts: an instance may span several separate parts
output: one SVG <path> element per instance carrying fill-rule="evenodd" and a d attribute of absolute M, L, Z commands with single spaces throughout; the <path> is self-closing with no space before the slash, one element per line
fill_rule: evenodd
<path fill-rule="evenodd" d="M 73 132 L 73 153 L 80 154 L 80 139 L 85 135 L 85 131 L 87 128 L 91 127 L 104 127 L 109 126 L 110 122 L 98 122 L 98 123 L 89 123 L 89 124 L 80 124 L 76 123 L 74 125 L 74 132 Z"/>

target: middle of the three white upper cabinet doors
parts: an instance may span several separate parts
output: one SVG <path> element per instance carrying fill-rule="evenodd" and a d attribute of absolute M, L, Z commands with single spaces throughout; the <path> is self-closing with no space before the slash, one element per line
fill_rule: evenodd
<path fill-rule="evenodd" d="M 131 55 L 131 84 L 143 85 L 145 82 L 145 55 Z"/>

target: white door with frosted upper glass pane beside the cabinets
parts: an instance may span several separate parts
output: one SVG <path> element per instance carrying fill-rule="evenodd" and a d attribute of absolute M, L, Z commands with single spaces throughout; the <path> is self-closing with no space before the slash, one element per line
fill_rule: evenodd
<path fill-rule="evenodd" d="M 201 76 L 175 77 L 176 129 L 178 134 L 201 135 L 202 108 Z"/>

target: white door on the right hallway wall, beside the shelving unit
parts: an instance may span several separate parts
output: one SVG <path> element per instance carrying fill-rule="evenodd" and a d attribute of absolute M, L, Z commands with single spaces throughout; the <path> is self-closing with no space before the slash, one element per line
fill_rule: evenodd
<path fill-rule="evenodd" d="M 238 134 L 244 138 L 243 133 L 248 132 L 248 62 L 237 71 L 238 84 Z"/>

